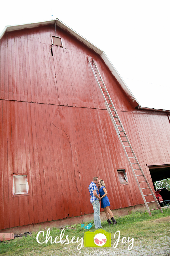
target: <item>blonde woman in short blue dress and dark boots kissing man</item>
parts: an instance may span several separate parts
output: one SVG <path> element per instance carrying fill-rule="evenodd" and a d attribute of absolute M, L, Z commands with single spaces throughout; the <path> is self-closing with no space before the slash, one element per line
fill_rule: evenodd
<path fill-rule="evenodd" d="M 100 197 L 102 198 L 101 199 L 101 208 L 103 208 L 105 211 L 105 214 L 107 217 L 107 222 L 109 225 L 111 225 L 112 222 L 113 222 L 113 224 L 116 224 L 117 221 L 114 219 L 113 213 L 109 208 L 110 202 L 109 202 L 109 198 L 107 197 L 107 190 L 106 190 L 106 186 L 105 186 L 103 179 L 99 179 L 98 185 L 99 185 L 99 194 L 100 194 Z M 110 220 L 109 214 L 111 216 L 112 222 Z"/>

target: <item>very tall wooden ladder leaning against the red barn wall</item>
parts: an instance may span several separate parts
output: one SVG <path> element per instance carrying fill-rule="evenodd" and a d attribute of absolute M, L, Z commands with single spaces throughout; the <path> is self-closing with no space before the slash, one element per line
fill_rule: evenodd
<path fill-rule="evenodd" d="M 91 60 L 90 60 L 90 59 L 91 59 Z M 116 112 L 116 109 L 115 109 L 115 107 L 114 107 L 114 105 L 113 105 L 113 102 L 112 102 L 112 100 L 111 100 L 111 97 L 110 97 L 110 95 L 109 95 L 109 92 L 107 91 L 107 88 L 106 88 L 106 86 L 105 86 L 105 83 L 103 82 L 103 79 L 102 79 L 102 77 L 101 77 L 101 75 L 100 75 L 100 73 L 99 73 L 99 70 L 97 69 L 97 66 L 96 66 L 96 64 L 95 64 L 95 62 L 94 62 L 94 59 L 93 59 L 93 58 L 88 58 L 88 61 L 89 61 L 89 63 L 90 63 L 90 66 L 91 66 L 91 68 L 92 68 L 92 71 L 93 71 L 93 73 L 94 73 L 94 76 L 95 76 L 95 78 L 96 78 L 96 80 L 97 80 L 97 83 L 98 83 L 98 85 L 99 85 L 99 88 L 100 88 L 100 90 L 101 90 L 101 93 L 102 93 L 102 95 L 103 95 L 103 98 L 104 98 L 104 100 L 105 100 L 105 106 L 106 106 L 106 108 L 107 108 L 107 111 L 109 112 L 109 115 L 110 115 L 110 117 L 111 117 L 112 123 L 113 123 L 113 125 L 114 125 L 114 128 L 115 128 L 115 130 L 116 130 L 116 133 L 117 133 L 118 138 L 119 138 L 119 140 L 120 140 L 120 143 L 122 144 L 122 147 L 123 147 L 124 152 L 125 152 L 125 154 L 126 154 L 126 157 L 127 157 L 127 159 L 128 159 L 130 168 L 131 168 L 131 170 L 132 170 L 132 172 L 133 172 L 133 175 L 134 175 L 134 177 L 135 177 L 135 180 L 136 180 L 137 185 L 138 185 L 138 187 L 139 187 L 139 190 L 140 190 L 140 192 L 141 192 L 141 195 L 142 195 L 143 201 L 144 201 L 144 203 L 145 203 L 146 209 L 148 210 L 148 213 L 149 213 L 150 216 L 152 216 L 152 214 L 151 214 L 151 212 L 150 212 L 151 210 L 160 209 L 160 211 L 163 213 L 163 211 L 162 211 L 162 209 L 161 209 L 161 207 L 160 207 L 160 205 L 159 205 L 159 203 L 158 203 L 158 201 L 157 201 L 157 199 L 156 199 L 156 196 L 155 196 L 154 192 L 152 191 L 152 188 L 150 187 L 150 185 L 149 185 L 149 183 L 148 183 L 148 180 L 146 179 L 146 176 L 145 176 L 145 174 L 144 174 L 144 172 L 143 172 L 143 170 L 142 170 L 142 168 L 141 168 L 141 166 L 140 166 L 140 164 L 139 164 L 139 162 L 138 162 L 138 160 L 137 160 L 137 157 L 135 156 L 135 153 L 134 153 L 133 148 L 132 148 L 132 146 L 131 146 L 131 144 L 130 144 L 130 142 L 129 142 L 129 139 L 128 139 L 128 136 L 127 136 L 127 134 L 126 134 L 126 131 L 125 131 L 125 129 L 124 129 L 124 127 L 123 127 L 123 125 L 122 125 L 122 123 L 121 123 L 121 121 L 120 121 L 120 118 L 119 118 L 119 116 L 118 116 L 118 113 Z M 135 174 L 135 172 L 136 172 L 137 174 Z M 144 181 L 138 181 L 138 178 L 140 179 L 141 176 L 143 176 L 143 178 L 145 179 Z M 147 185 L 146 185 L 146 187 L 141 188 L 140 183 L 144 183 L 144 182 L 145 182 Z M 150 189 L 150 193 L 151 193 L 151 194 L 144 195 L 144 194 L 143 194 L 143 189 L 144 189 L 145 191 L 146 191 L 146 189 Z M 146 193 L 147 193 L 147 192 L 146 192 Z M 153 196 L 154 201 L 146 202 L 145 197 L 146 197 L 146 196 L 150 196 L 150 195 Z M 151 209 L 151 210 L 150 210 L 149 207 L 148 207 L 148 203 L 153 203 L 153 202 L 156 202 L 156 204 L 158 205 L 158 208 L 155 208 L 155 209 Z"/>

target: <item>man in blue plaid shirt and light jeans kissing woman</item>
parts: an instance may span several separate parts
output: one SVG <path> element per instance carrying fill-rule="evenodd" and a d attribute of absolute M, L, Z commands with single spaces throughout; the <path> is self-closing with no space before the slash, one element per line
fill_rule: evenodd
<path fill-rule="evenodd" d="M 99 183 L 99 178 L 94 177 L 93 181 L 89 185 L 90 192 L 90 203 L 93 205 L 94 209 L 94 226 L 95 228 L 102 228 L 100 220 L 100 202 L 101 198 L 99 197 L 99 191 L 96 184 Z"/>

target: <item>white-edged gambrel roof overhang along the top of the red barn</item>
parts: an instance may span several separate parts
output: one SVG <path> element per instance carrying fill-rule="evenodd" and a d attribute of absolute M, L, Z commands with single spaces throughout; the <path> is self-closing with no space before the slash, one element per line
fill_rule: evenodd
<path fill-rule="evenodd" d="M 115 67 L 113 66 L 113 64 L 111 63 L 111 61 L 107 57 L 107 55 L 104 53 L 104 51 L 102 51 L 97 46 L 95 46 L 94 44 L 89 42 L 86 38 L 84 38 L 83 36 L 81 36 L 80 34 L 75 32 L 73 29 L 71 29 L 70 27 L 65 25 L 59 19 L 47 20 L 47 21 L 36 22 L 36 23 L 13 25 L 13 26 L 5 26 L 4 30 L 0 34 L 0 39 L 3 37 L 5 32 L 12 32 L 12 31 L 15 31 L 15 30 L 22 30 L 22 29 L 26 29 L 26 28 L 37 28 L 39 26 L 54 25 L 55 24 L 54 22 L 56 22 L 56 26 L 58 26 L 59 28 L 61 28 L 64 31 L 68 32 L 69 34 L 74 36 L 76 39 L 78 39 L 80 42 L 85 44 L 88 48 L 90 48 L 94 52 L 98 53 L 100 55 L 100 57 L 103 59 L 103 61 L 105 62 L 105 64 L 107 65 L 107 67 L 109 68 L 109 70 L 111 71 L 112 75 L 114 75 L 114 77 L 119 82 L 121 88 L 124 90 L 125 94 L 127 95 L 128 99 L 132 103 L 133 107 L 135 108 L 135 107 L 139 106 L 139 108 L 141 109 L 141 106 L 139 105 L 139 102 L 137 101 L 135 96 L 133 96 L 132 92 L 129 90 L 128 86 L 126 85 L 126 83 L 124 82 L 124 80 L 122 79 L 122 77 L 120 76 L 118 71 L 115 69 Z M 145 109 L 147 109 L 147 108 L 145 108 Z M 151 110 L 151 109 L 149 109 L 149 110 Z M 163 110 L 163 111 L 165 111 L 165 110 Z"/>

